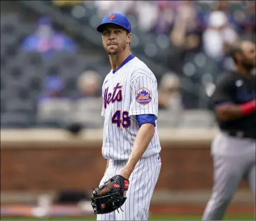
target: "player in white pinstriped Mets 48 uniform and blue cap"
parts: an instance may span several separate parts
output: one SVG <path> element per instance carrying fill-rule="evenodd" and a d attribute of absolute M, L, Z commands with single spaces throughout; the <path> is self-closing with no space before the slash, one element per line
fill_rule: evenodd
<path fill-rule="evenodd" d="M 115 175 L 129 180 L 123 211 L 99 214 L 97 220 L 147 220 L 161 169 L 157 80 L 130 51 L 131 24 L 125 15 L 110 13 L 97 31 L 112 67 L 102 86 L 102 155 L 107 164 L 99 185 Z"/>

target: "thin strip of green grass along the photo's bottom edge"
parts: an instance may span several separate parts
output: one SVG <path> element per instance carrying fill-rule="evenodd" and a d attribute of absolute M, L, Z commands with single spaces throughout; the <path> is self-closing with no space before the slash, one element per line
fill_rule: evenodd
<path fill-rule="evenodd" d="M 201 220 L 202 216 L 150 216 L 149 220 Z M 85 217 L 51 217 L 51 218 L 31 218 L 31 217 L 8 217 L 2 218 L 1 220 L 96 220 L 95 216 L 85 216 Z M 225 220 L 255 220 L 253 215 L 227 215 Z"/>

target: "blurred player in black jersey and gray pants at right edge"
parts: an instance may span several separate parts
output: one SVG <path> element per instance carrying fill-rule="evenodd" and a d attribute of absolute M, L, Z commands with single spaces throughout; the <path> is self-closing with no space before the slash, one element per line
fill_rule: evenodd
<path fill-rule="evenodd" d="M 235 67 L 219 80 L 212 95 L 219 132 L 212 142 L 214 184 L 202 220 L 222 220 L 245 178 L 255 199 L 255 44 L 233 48 Z"/>

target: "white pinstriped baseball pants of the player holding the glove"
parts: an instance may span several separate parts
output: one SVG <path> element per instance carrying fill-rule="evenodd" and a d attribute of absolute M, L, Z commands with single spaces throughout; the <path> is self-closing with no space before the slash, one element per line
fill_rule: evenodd
<path fill-rule="evenodd" d="M 141 158 L 131 174 L 129 189 L 126 192 L 126 202 L 119 209 L 103 215 L 97 215 L 97 220 L 147 220 L 150 201 L 153 195 L 155 184 L 161 170 L 161 159 L 159 155 Z M 126 160 L 109 160 L 109 167 L 103 176 L 100 185 L 110 177 L 115 176 Z"/>

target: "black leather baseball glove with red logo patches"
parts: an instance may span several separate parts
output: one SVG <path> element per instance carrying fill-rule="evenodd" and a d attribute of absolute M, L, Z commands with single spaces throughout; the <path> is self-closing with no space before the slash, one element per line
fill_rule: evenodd
<path fill-rule="evenodd" d="M 92 194 L 92 208 L 95 214 L 110 213 L 118 209 L 126 201 L 124 191 L 129 188 L 129 180 L 116 175 L 111 177 L 102 186 L 96 188 Z M 120 208 L 121 209 L 121 208 Z M 121 209 L 122 210 L 122 209 Z M 119 211 L 118 211 L 119 212 Z"/>

